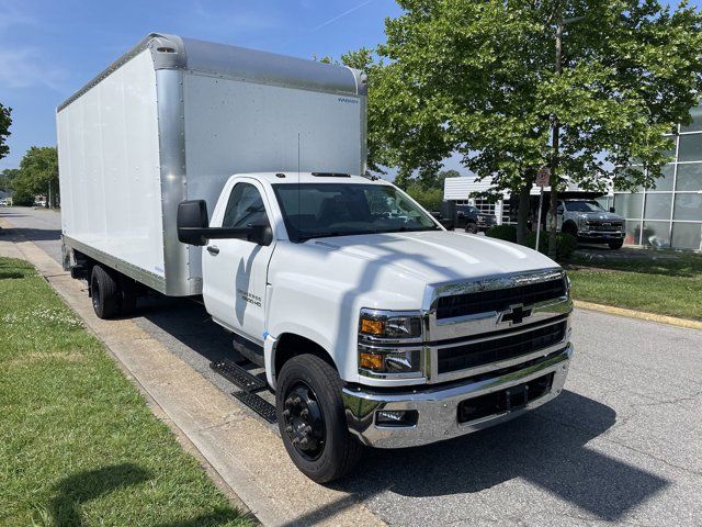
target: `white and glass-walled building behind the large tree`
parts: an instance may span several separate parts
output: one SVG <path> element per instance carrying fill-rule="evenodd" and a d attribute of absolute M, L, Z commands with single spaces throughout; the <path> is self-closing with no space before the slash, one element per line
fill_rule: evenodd
<path fill-rule="evenodd" d="M 664 167 L 655 187 L 635 192 L 614 189 L 597 198 L 605 210 L 614 206 L 626 218 L 625 245 L 702 250 L 702 106 L 692 111 L 692 124 L 680 126 L 673 136 L 673 160 Z M 516 200 L 508 192 L 495 203 L 475 198 L 489 186 L 475 177 L 446 178 L 444 200 L 475 205 L 495 214 L 499 224 L 516 223 L 514 206 L 510 206 Z M 539 192 L 534 187 L 532 197 Z M 564 198 L 581 195 L 573 186 L 563 193 Z M 532 198 L 532 208 L 533 203 Z"/>

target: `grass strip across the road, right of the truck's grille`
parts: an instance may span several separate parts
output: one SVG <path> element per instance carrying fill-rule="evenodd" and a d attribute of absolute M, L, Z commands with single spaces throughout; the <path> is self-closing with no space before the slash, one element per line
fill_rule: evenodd
<path fill-rule="evenodd" d="M 574 298 L 702 321 L 702 255 L 637 253 L 643 257 L 576 257 L 568 269 Z"/>

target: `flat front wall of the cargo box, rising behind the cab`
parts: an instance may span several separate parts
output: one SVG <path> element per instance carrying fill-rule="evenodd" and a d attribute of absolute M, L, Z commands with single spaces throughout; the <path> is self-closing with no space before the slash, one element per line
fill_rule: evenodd
<path fill-rule="evenodd" d="M 364 96 L 193 72 L 183 92 L 188 199 L 206 200 L 210 214 L 235 173 L 365 170 Z M 201 249 L 190 250 L 191 277 L 201 276 Z"/>

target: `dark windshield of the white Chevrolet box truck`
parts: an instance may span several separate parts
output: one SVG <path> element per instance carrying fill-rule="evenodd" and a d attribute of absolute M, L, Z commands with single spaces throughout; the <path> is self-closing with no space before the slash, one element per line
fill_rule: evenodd
<path fill-rule="evenodd" d="M 274 184 L 290 239 L 438 231 L 434 221 L 387 184 Z"/>

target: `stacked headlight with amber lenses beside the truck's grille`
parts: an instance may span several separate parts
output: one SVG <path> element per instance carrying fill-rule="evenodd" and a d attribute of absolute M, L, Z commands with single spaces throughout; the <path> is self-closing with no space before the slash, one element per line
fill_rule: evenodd
<path fill-rule="evenodd" d="M 421 313 L 361 310 L 359 372 L 370 377 L 421 375 Z"/>

